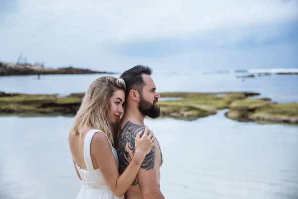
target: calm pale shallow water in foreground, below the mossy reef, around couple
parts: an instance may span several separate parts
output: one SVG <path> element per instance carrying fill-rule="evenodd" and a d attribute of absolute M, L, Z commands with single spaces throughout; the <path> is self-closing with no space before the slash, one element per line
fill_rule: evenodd
<path fill-rule="evenodd" d="M 297 126 L 146 119 L 160 142 L 161 191 L 171 199 L 297 199 Z M 67 144 L 73 117 L 0 117 L 0 198 L 73 199 Z"/>

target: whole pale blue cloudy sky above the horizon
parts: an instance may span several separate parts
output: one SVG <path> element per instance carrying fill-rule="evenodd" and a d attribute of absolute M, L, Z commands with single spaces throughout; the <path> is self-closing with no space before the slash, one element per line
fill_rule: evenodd
<path fill-rule="evenodd" d="M 0 0 L 0 61 L 121 72 L 298 68 L 298 0 Z"/>

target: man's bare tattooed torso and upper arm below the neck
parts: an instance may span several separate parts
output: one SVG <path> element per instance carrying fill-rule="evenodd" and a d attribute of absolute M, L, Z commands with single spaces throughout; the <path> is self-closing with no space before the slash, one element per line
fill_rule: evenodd
<path fill-rule="evenodd" d="M 127 168 L 132 160 L 135 148 L 136 134 L 140 131 L 144 133 L 145 127 L 143 124 L 136 124 L 127 121 L 121 125 L 117 139 L 117 153 L 120 162 L 120 174 Z M 156 140 L 157 141 L 157 140 Z M 141 164 L 141 163 L 137 163 Z M 162 154 L 158 142 L 151 152 L 145 157 L 141 169 L 125 194 L 126 199 L 163 199 L 159 190 L 160 171 L 159 167 L 162 164 Z"/>

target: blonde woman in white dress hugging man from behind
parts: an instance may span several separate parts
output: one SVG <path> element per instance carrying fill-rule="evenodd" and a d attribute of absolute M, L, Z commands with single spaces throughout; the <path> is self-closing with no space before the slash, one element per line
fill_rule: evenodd
<path fill-rule="evenodd" d="M 113 147 L 113 129 L 119 124 L 125 100 L 122 79 L 105 76 L 94 80 L 82 100 L 69 132 L 74 167 L 83 185 L 76 199 L 124 199 L 155 137 L 148 128 L 136 137 L 136 153 L 119 175 L 119 160 Z M 152 141 L 153 140 L 153 141 Z"/>

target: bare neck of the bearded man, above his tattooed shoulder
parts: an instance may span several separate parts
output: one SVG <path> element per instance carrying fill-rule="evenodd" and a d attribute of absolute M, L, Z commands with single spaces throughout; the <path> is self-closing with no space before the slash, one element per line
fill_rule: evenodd
<path fill-rule="evenodd" d="M 143 115 L 138 108 L 134 107 L 126 107 L 125 112 L 123 115 L 123 120 L 121 122 L 121 126 L 126 124 L 127 121 L 136 123 L 136 124 L 143 124 L 145 115 Z"/>

